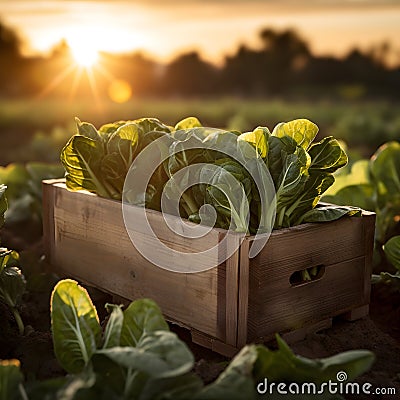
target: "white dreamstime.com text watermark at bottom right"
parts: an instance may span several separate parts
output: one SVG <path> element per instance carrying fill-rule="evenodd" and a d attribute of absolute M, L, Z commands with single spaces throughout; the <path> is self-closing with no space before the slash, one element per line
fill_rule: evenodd
<path fill-rule="evenodd" d="M 286 383 L 269 382 L 267 378 L 257 384 L 258 394 L 278 395 L 395 395 L 394 387 L 376 387 L 369 382 L 348 381 L 345 371 L 336 374 L 336 381 L 329 380 L 320 384 L 314 382 Z"/>

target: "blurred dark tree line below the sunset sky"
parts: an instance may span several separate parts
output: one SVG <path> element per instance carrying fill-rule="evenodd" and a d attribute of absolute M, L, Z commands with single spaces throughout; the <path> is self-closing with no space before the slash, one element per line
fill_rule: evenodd
<path fill-rule="evenodd" d="M 398 96 L 400 66 L 388 67 L 388 43 L 339 58 L 312 54 L 291 29 L 265 28 L 259 38 L 259 48 L 240 45 L 220 66 L 196 51 L 164 64 L 138 52 L 102 53 L 89 74 L 74 66 L 65 41 L 49 55 L 23 56 L 16 32 L 0 22 L 0 96 L 88 96 L 93 85 L 104 96 L 114 79 L 126 81 L 136 97 Z"/>

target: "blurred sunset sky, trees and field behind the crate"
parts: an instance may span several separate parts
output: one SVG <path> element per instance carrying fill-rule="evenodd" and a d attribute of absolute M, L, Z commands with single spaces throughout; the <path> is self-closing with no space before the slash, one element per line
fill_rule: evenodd
<path fill-rule="evenodd" d="M 400 1 L 0 0 L 0 165 L 96 126 L 309 118 L 351 160 L 400 137 Z"/>

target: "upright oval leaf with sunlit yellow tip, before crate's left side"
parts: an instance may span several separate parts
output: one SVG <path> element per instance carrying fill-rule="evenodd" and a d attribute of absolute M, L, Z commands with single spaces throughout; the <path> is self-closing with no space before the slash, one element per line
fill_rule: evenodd
<path fill-rule="evenodd" d="M 67 372 L 81 372 L 100 343 L 101 328 L 87 291 L 71 279 L 53 290 L 51 327 L 58 362 Z"/>

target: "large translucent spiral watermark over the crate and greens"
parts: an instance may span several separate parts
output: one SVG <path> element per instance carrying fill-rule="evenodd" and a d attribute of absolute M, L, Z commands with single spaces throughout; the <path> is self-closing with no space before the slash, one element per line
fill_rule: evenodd
<path fill-rule="evenodd" d="M 221 142 L 219 134 L 224 135 Z M 178 133 L 175 133 L 175 139 Z M 208 140 L 204 140 L 207 137 Z M 215 139 L 215 140 L 214 140 Z M 234 162 L 243 168 L 251 177 L 260 196 L 260 224 L 252 237 L 249 257 L 255 257 L 267 243 L 275 221 L 276 198 L 272 177 L 264 161 L 259 157 L 249 156 L 254 148 L 247 142 L 237 145 L 237 135 L 214 128 L 196 128 L 189 137 L 176 141 L 171 146 L 169 138 L 162 136 L 151 142 L 136 157 L 125 179 L 122 195 L 122 213 L 125 228 L 129 238 L 140 254 L 152 264 L 174 272 L 196 273 L 214 268 L 229 257 L 240 247 L 248 233 L 250 205 L 243 185 L 220 165 L 197 162 L 190 164 L 185 157 L 193 152 L 218 152 L 223 154 L 228 162 Z M 192 152 L 192 153 L 190 153 Z M 183 155 L 183 156 L 182 156 Z M 181 158 L 180 158 L 181 157 Z M 161 194 L 161 214 L 165 229 L 162 232 L 169 238 L 179 236 L 180 241 L 193 243 L 190 252 L 181 248 L 170 247 L 160 237 L 151 224 L 151 214 L 143 206 L 146 196 L 151 196 L 149 187 L 154 174 L 160 173 L 160 168 L 166 162 L 175 162 L 176 166 Z M 235 164 L 235 165 L 236 165 Z M 216 177 L 218 182 L 215 183 Z M 150 186 L 149 186 L 150 185 Z M 180 216 L 181 199 L 185 192 L 196 185 L 207 185 L 216 188 L 225 196 L 227 208 L 231 212 L 229 229 L 218 240 L 213 230 L 217 214 L 211 204 L 203 204 L 198 209 L 199 223 L 190 223 Z M 131 205 L 139 205 L 132 208 Z M 165 233 L 167 232 L 167 233 Z M 145 235 L 146 240 L 143 240 Z M 201 250 L 196 247 L 196 240 L 207 235 L 214 238 L 209 240 L 210 247 Z M 162 236 L 162 235 L 161 235 Z M 220 240 L 221 238 L 221 240 Z M 192 241 L 192 242 L 191 242 Z M 207 242 L 204 240 L 202 244 Z M 188 245 L 190 246 L 190 244 Z"/>

